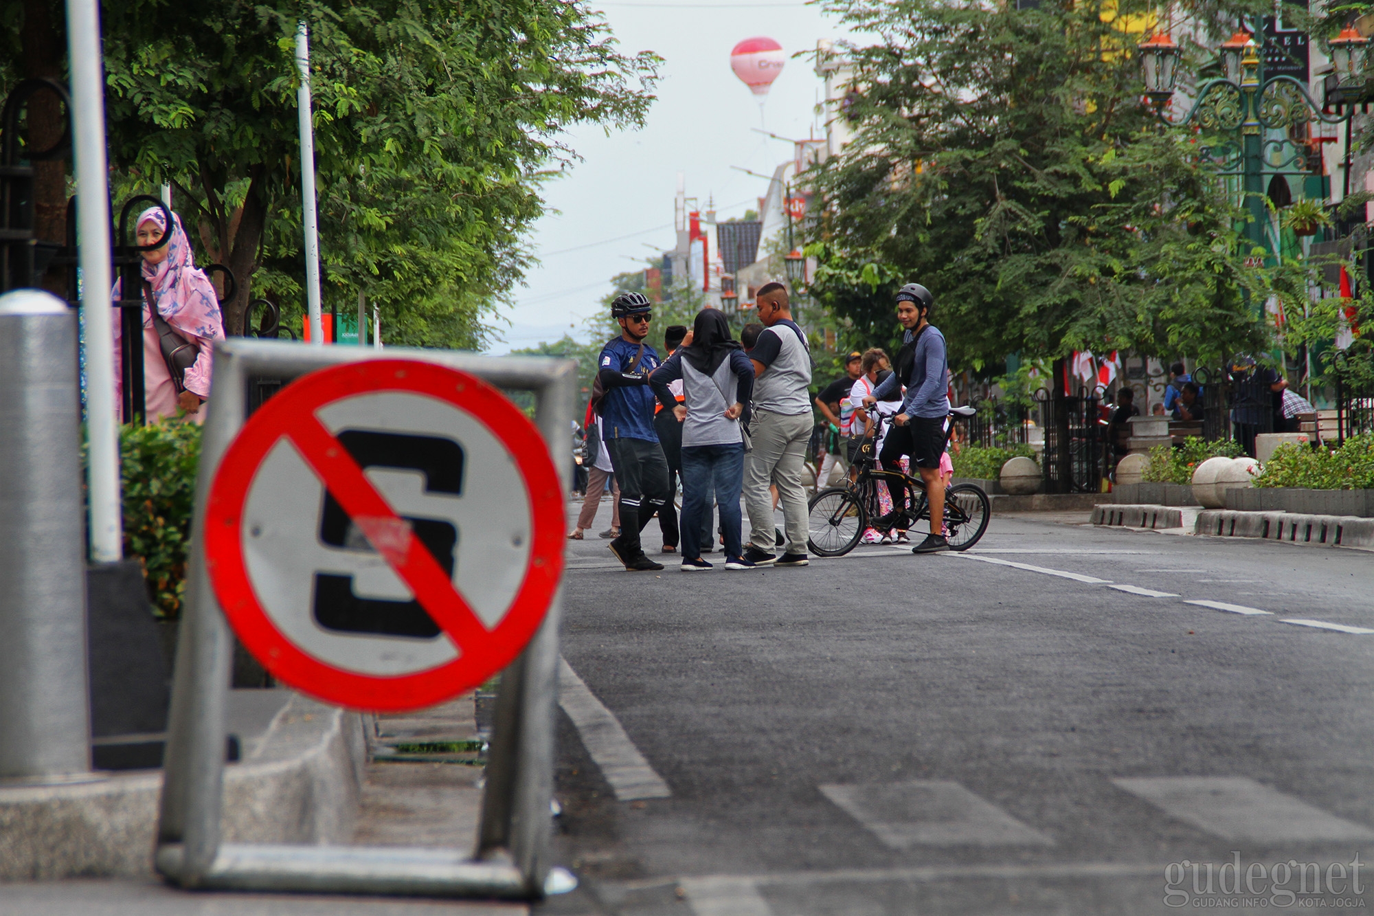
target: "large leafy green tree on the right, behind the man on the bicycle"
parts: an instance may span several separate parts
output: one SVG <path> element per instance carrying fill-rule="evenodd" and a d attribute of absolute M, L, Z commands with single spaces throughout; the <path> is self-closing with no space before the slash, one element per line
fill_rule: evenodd
<path fill-rule="evenodd" d="M 893 342 L 892 292 L 919 281 L 965 366 L 1264 344 L 1243 213 L 1140 103 L 1134 6 L 830 3 L 878 36 L 845 50 L 855 140 L 811 173 L 815 293 L 861 342 Z"/>

